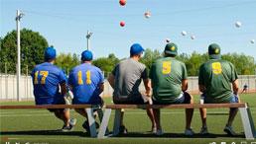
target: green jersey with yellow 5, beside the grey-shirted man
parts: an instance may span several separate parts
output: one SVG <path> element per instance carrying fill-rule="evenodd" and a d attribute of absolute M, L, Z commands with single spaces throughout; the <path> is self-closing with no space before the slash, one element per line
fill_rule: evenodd
<path fill-rule="evenodd" d="M 157 59 L 150 70 L 153 99 L 161 103 L 173 103 L 182 93 L 182 81 L 188 78 L 183 62 L 174 57 Z"/>

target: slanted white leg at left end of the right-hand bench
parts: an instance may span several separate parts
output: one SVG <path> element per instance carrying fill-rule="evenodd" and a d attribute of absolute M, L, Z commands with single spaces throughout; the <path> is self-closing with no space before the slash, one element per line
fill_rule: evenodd
<path fill-rule="evenodd" d="M 105 133 L 107 130 L 107 125 L 108 125 L 108 121 L 111 115 L 111 108 L 106 108 L 103 118 L 101 120 L 101 124 L 99 127 L 99 132 L 98 132 L 98 138 L 104 138 L 105 137 Z"/>

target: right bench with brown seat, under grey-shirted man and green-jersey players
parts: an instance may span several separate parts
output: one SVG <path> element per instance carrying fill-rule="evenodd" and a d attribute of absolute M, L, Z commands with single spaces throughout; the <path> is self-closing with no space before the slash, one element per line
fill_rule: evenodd
<path fill-rule="evenodd" d="M 251 116 L 250 109 L 247 104 L 186 104 L 186 105 L 106 105 L 104 116 L 99 127 L 98 138 L 106 138 L 105 131 L 109 122 L 111 110 L 115 110 L 114 126 L 112 135 L 119 133 L 121 108 L 239 108 L 243 129 L 246 139 L 254 139 L 256 137 L 255 127 Z"/>

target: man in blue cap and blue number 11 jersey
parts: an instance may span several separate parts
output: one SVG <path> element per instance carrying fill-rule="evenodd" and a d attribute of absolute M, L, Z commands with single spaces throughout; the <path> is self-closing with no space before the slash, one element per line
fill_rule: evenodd
<path fill-rule="evenodd" d="M 91 64 L 92 58 L 91 51 L 83 51 L 81 64 L 74 67 L 69 73 L 68 84 L 73 94 L 72 104 L 103 105 L 99 95 L 104 90 L 104 76 L 99 68 Z M 87 117 L 84 108 L 75 108 L 75 111 Z M 82 127 L 89 132 L 87 120 L 83 122 Z"/>

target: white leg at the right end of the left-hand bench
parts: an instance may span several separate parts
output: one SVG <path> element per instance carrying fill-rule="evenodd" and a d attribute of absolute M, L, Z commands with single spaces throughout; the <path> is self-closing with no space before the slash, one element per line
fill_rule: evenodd
<path fill-rule="evenodd" d="M 96 124 L 95 119 L 93 115 L 93 108 L 86 108 L 88 121 L 89 121 L 89 130 L 90 130 L 90 137 L 97 137 L 97 131 L 96 131 Z"/>

